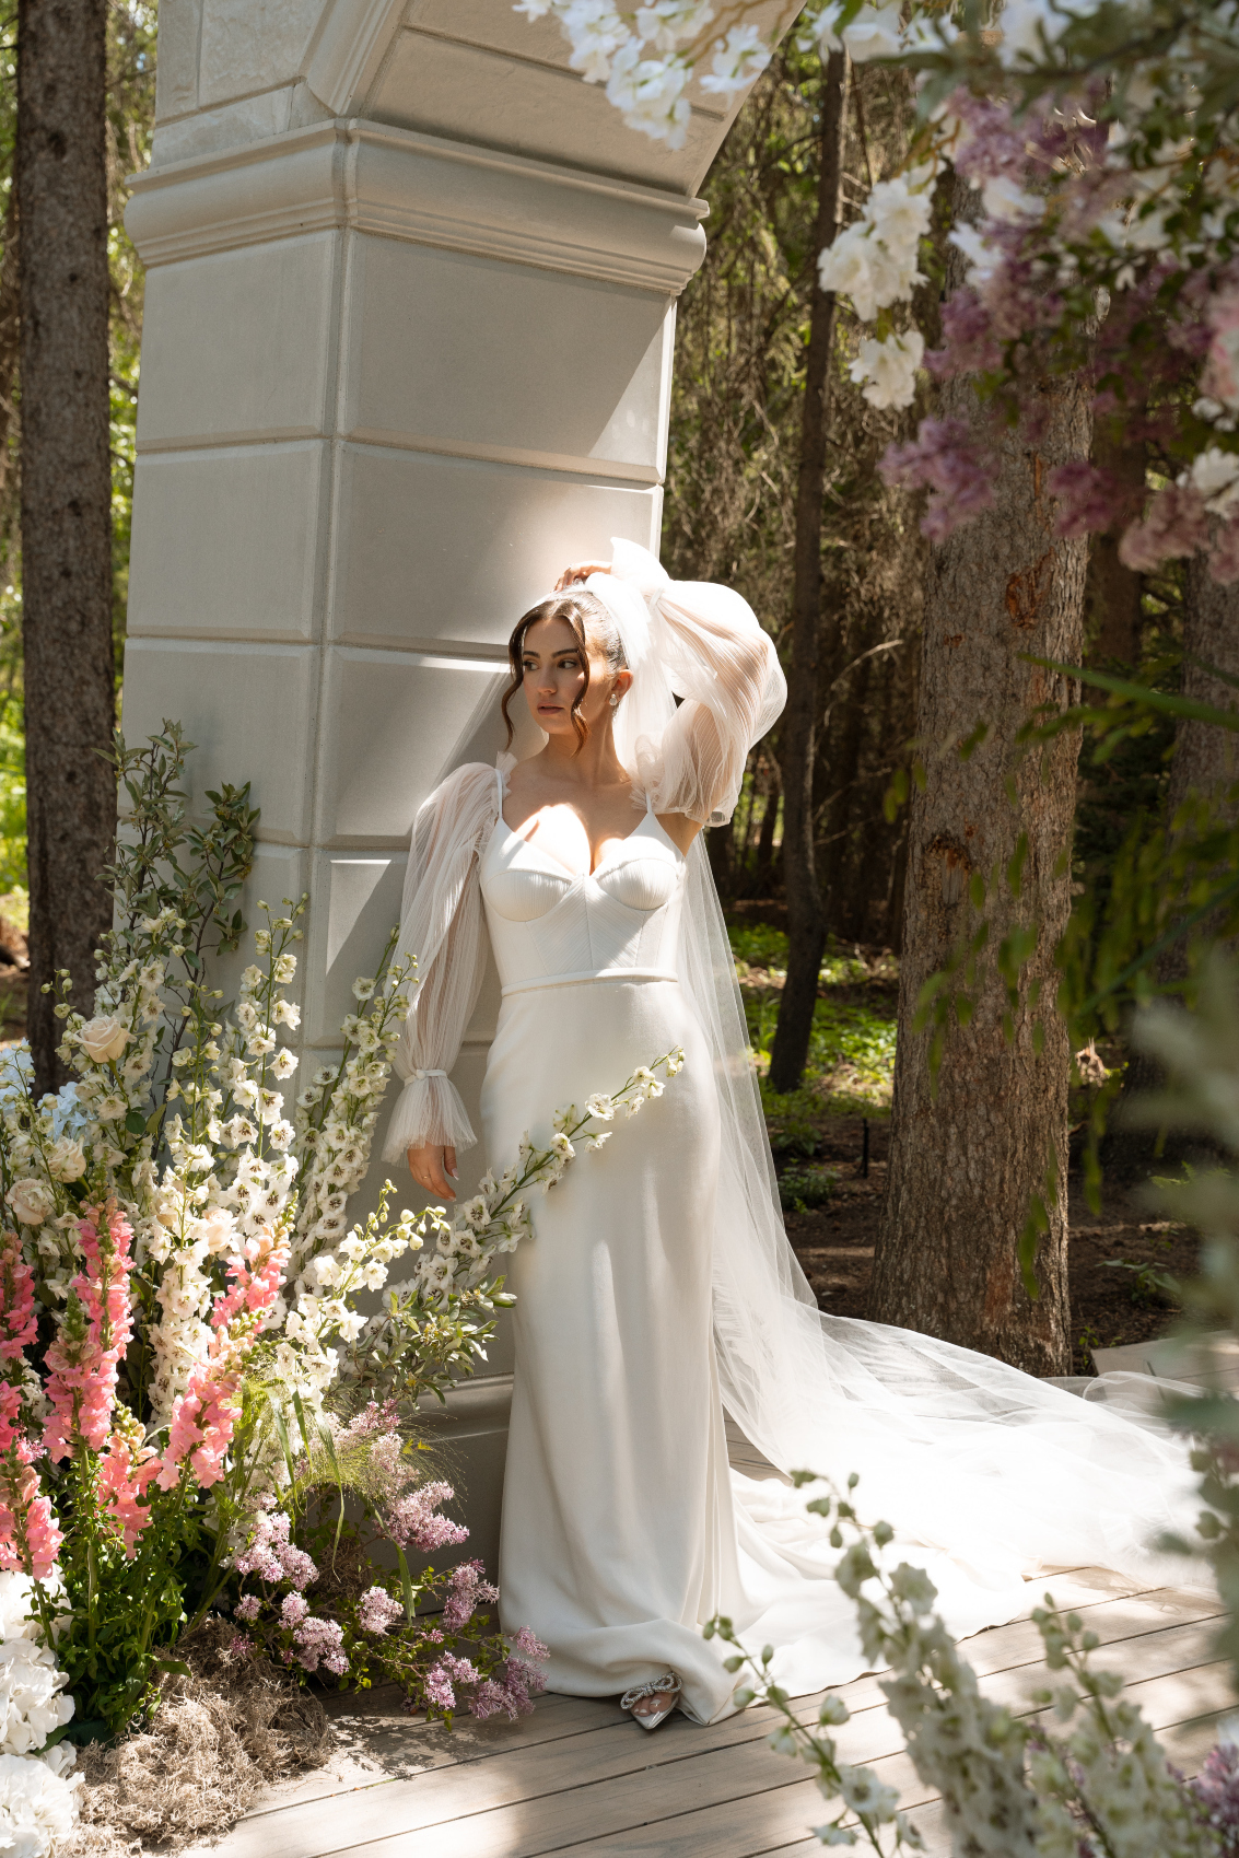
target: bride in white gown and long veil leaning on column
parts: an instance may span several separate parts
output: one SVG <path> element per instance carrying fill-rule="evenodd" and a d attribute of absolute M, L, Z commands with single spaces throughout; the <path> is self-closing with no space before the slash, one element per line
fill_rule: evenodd
<path fill-rule="evenodd" d="M 418 987 L 386 1159 L 455 1198 L 476 1141 L 450 1083 L 485 972 L 503 1000 L 481 1096 L 496 1169 L 552 1113 L 684 1046 L 637 1122 L 539 1202 L 513 1256 L 516 1373 L 500 1589 L 550 1646 L 548 1687 L 622 1693 L 646 1728 L 728 1715 L 726 1613 L 789 1694 L 866 1668 L 804 1498 L 728 1470 L 724 1408 L 782 1472 L 860 1473 L 871 1520 L 931 1572 L 957 1635 L 1027 1609 L 1024 1577 L 1105 1566 L 1191 1529 L 1181 1447 L 931 1336 L 817 1312 L 788 1245 L 736 972 L 700 842 L 786 700 L 726 587 L 615 541 L 511 637 L 535 756 L 459 767 L 412 832 L 401 948 Z M 1105 1394 L 1105 1388 L 1096 1388 Z"/>

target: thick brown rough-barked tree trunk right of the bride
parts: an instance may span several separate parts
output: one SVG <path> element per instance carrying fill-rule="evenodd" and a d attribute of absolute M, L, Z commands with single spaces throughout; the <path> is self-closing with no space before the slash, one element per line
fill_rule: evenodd
<path fill-rule="evenodd" d="M 944 414 L 975 420 L 968 383 L 944 392 Z M 1012 765 L 1016 730 L 1035 704 L 1066 708 L 1066 680 L 1022 654 L 1079 663 L 1085 541 L 1055 541 L 1048 472 L 1089 455 L 1089 401 L 1076 381 L 1042 386 L 1044 437 L 1007 431 L 996 502 L 933 550 L 925 593 L 918 736 L 927 784 L 914 792 L 899 974 L 899 1039 L 888 1191 L 873 1265 L 869 1314 L 996 1354 L 1038 1375 L 1070 1364 L 1066 1289 L 1066 1137 L 1070 1050 L 1053 1007 L 1053 949 L 1070 909 L 1079 738 Z M 979 721 L 983 747 L 955 754 Z M 949 745 L 934 756 L 931 745 Z M 1014 775 L 1016 805 L 1007 799 Z M 929 1033 L 912 1022 L 925 981 L 977 927 L 973 873 L 990 881 L 1027 834 L 1022 896 L 990 884 L 988 949 L 970 988 L 968 1026 L 951 1026 L 931 1094 Z M 1018 923 L 1037 925 L 1003 1035 L 1007 990 L 994 955 Z M 1033 988 L 1040 1005 L 1033 1003 Z M 1035 1050 L 1035 1027 L 1044 1048 Z M 1061 1193 L 1046 1193 L 1046 1169 Z M 1037 1260 L 1040 1297 L 1024 1289 L 1018 1243 L 1031 1195 L 1046 1198 L 1050 1230 Z"/>

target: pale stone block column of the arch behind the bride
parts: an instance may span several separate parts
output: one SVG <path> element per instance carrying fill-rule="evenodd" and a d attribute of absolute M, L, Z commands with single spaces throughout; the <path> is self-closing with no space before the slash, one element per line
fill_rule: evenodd
<path fill-rule="evenodd" d="M 247 914 L 312 896 L 305 1070 L 398 920 L 418 805 L 502 745 L 516 617 L 611 535 L 658 550 L 728 119 L 702 100 L 678 156 L 624 130 L 509 0 L 163 0 L 158 117 L 124 732 L 178 719 L 195 793 L 253 780 Z M 489 1559 L 507 1366 L 463 1397 Z"/>

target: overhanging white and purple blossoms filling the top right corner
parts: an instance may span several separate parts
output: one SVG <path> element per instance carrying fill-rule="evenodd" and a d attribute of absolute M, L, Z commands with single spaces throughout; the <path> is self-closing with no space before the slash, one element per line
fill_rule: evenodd
<path fill-rule="evenodd" d="M 680 147 L 691 82 L 747 87 L 799 7 L 773 22 L 760 0 L 520 0 L 516 11 L 557 19 L 572 67 L 606 84 L 632 126 Z M 888 481 L 929 489 L 927 533 L 942 539 L 988 507 L 992 438 L 1018 422 L 1035 444 L 1038 383 L 1076 373 L 1098 431 L 1115 451 L 1146 448 L 1163 483 L 1148 496 L 1142 476 L 1063 464 L 1046 485 L 1059 533 L 1116 526 L 1139 570 L 1206 548 L 1215 580 L 1239 580 L 1233 11 L 1220 0 L 814 0 L 799 32 L 823 58 L 843 48 L 916 74 L 906 164 L 871 186 L 819 275 L 873 325 L 851 366 L 867 401 L 912 405 L 921 364 L 983 392 L 983 418 L 927 418 L 884 459 Z M 921 256 L 940 275 L 925 236 L 951 175 L 966 184 L 947 206 L 966 275 L 942 307 L 942 347 L 927 353 L 912 294 Z"/>

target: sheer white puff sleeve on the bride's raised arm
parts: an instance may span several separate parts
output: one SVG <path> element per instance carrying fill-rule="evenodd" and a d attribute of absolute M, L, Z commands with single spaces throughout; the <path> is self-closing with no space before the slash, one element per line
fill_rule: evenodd
<path fill-rule="evenodd" d="M 658 743 L 637 743 L 637 773 L 654 812 L 698 825 L 732 818 L 749 749 L 788 700 L 775 641 L 730 587 L 672 582 L 648 550 L 615 539 L 615 578 L 650 615 L 650 656 L 680 704 Z"/>

